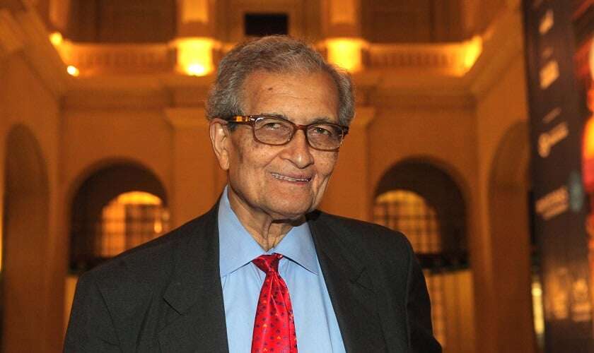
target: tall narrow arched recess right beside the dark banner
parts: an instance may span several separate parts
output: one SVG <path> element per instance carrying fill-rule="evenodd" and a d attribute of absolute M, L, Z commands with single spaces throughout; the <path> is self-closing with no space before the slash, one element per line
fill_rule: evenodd
<path fill-rule="evenodd" d="M 528 124 L 521 122 L 508 129 L 491 164 L 489 231 L 491 261 L 496 268 L 493 290 L 499 308 L 497 316 L 492 318 L 497 332 L 497 352 L 535 352 L 536 349 L 535 321 L 530 310 L 529 156 Z M 537 288 L 534 293 L 538 301 Z"/>

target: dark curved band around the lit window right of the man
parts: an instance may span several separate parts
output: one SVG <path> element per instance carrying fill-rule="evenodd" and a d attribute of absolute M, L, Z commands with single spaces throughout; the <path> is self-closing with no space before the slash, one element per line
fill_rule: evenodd
<path fill-rule="evenodd" d="M 462 191 L 450 174 L 431 162 L 404 160 L 385 172 L 374 196 L 390 190 L 419 194 L 435 210 L 440 225 L 442 256 L 458 263 L 467 261 L 466 203 Z"/>

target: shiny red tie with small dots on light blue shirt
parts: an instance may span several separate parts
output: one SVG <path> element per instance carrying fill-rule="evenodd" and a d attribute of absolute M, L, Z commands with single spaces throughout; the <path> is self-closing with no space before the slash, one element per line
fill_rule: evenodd
<path fill-rule="evenodd" d="M 252 261 L 266 273 L 256 309 L 252 353 L 297 353 L 289 289 L 279 275 L 279 261 L 282 257 L 279 253 L 273 253 Z"/>

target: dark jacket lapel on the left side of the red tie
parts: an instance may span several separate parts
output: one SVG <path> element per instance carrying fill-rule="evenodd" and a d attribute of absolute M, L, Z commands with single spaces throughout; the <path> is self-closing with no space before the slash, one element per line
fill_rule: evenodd
<path fill-rule="evenodd" d="M 172 280 L 163 299 L 175 312 L 158 335 L 163 352 L 228 352 L 217 212 L 215 206 L 204 215 L 174 251 Z"/>

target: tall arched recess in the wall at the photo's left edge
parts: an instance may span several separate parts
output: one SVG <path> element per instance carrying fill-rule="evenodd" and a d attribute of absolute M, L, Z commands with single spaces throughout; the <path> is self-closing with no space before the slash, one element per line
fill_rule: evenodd
<path fill-rule="evenodd" d="M 46 320 L 61 307 L 45 302 L 49 186 L 40 146 L 25 126 L 9 131 L 5 161 L 2 350 L 45 352 Z"/>

